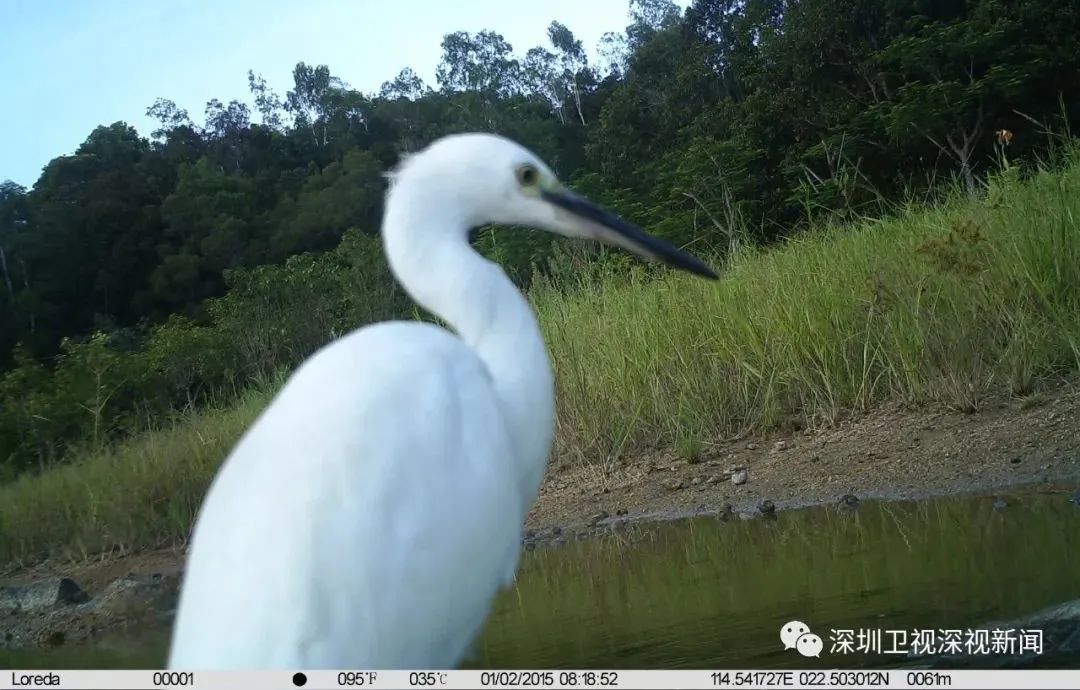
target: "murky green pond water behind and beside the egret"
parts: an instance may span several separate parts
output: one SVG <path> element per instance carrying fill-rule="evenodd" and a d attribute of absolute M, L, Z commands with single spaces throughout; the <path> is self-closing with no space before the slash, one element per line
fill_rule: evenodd
<path fill-rule="evenodd" d="M 903 655 L 839 653 L 831 649 L 831 631 L 880 630 L 889 647 L 886 631 L 985 627 L 1080 599 L 1080 506 L 1067 499 L 1021 493 L 1005 497 L 1003 508 L 997 497 L 864 501 L 855 511 L 699 517 L 540 549 L 526 554 L 517 585 L 498 600 L 464 665 L 910 665 Z M 819 658 L 783 648 L 780 628 L 792 620 L 824 640 Z M 140 631 L 50 651 L 0 650 L 0 667 L 160 667 L 167 634 Z M 1080 667 L 1078 648 L 1048 651 L 1034 665 Z M 1000 661 L 976 657 L 966 665 Z"/>

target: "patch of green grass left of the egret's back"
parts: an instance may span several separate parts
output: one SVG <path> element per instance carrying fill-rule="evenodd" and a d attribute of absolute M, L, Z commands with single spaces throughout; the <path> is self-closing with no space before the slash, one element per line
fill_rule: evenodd
<path fill-rule="evenodd" d="M 185 539 L 210 481 L 271 393 L 0 487 L 0 564 L 83 559 Z"/>

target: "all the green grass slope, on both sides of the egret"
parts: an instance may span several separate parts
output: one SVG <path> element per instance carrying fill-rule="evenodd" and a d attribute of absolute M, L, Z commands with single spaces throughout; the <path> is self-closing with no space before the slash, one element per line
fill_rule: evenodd
<path fill-rule="evenodd" d="M 556 454 L 687 460 L 718 439 L 883 401 L 977 409 L 1080 368 L 1080 155 L 983 200 L 816 229 L 727 261 L 718 282 L 639 267 L 531 290 L 557 370 Z M 272 387 L 271 387 L 272 388 Z M 251 392 L 0 486 L 0 564 L 183 539 Z"/>

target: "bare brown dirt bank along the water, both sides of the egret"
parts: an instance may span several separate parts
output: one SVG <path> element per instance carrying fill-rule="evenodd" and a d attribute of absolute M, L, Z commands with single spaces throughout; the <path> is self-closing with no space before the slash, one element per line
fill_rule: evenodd
<path fill-rule="evenodd" d="M 883 408 L 828 429 L 717 444 L 696 463 L 654 454 L 607 469 L 556 465 L 529 514 L 526 543 L 559 543 L 627 520 L 720 512 L 726 505 L 752 515 L 766 500 L 784 510 L 846 495 L 922 498 L 1032 485 L 1080 487 L 1075 387 L 1025 401 L 993 401 L 973 414 Z M 0 647 L 94 637 L 136 614 L 145 619 L 140 607 L 167 618 L 183 563 L 184 550 L 175 547 L 9 571 L 0 576 L 9 585 L 70 578 L 91 600 L 48 612 L 5 612 Z"/>

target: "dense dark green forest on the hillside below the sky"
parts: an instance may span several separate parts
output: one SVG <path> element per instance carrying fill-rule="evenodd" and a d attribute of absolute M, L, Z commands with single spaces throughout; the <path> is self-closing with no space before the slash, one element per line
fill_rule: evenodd
<path fill-rule="evenodd" d="M 0 475 L 414 315 L 378 244 L 384 174 L 447 133 L 517 139 L 651 232 L 723 255 L 943 180 L 975 193 L 1004 155 L 1052 157 L 1080 119 L 1074 0 L 630 11 L 592 60 L 556 21 L 524 53 L 448 33 L 434 85 L 406 68 L 361 93 L 299 63 L 280 95 L 249 71 L 254 111 L 214 99 L 200 123 L 159 98 L 149 138 L 102 125 L 32 189 L 0 184 Z M 596 261 L 539 233 L 476 243 L 523 285 Z"/>

